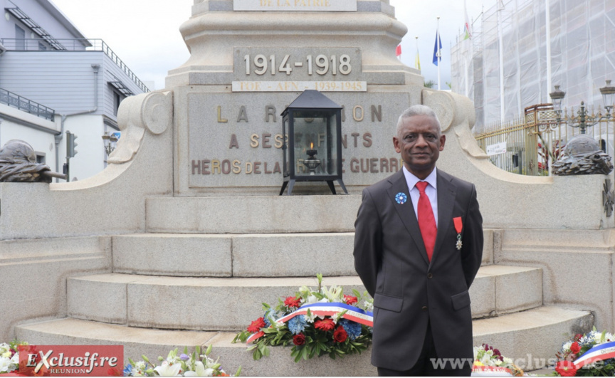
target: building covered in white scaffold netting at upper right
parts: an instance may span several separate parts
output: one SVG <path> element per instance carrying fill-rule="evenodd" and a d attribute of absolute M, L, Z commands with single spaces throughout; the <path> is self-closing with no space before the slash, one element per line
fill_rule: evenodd
<path fill-rule="evenodd" d="M 551 103 L 554 85 L 566 92 L 562 107 L 602 105 L 599 88 L 615 82 L 614 0 L 493 3 L 474 19 L 473 38 L 451 49 L 453 91 L 474 101 L 478 130 Z"/>

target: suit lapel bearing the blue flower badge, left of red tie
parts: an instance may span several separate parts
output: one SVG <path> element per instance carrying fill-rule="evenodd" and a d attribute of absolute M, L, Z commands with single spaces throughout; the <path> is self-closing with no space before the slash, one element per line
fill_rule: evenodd
<path fill-rule="evenodd" d="M 425 245 L 423 243 L 423 236 L 421 236 L 421 230 L 419 229 L 419 221 L 416 220 L 416 214 L 414 213 L 414 206 L 412 206 L 412 200 L 410 199 L 410 193 L 408 189 L 408 184 L 406 183 L 406 177 L 404 177 L 404 172 L 400 169 L 398 174 L 394 175 L 389 179 L 391 182 L 391 187 L 387 190 L 389 194 L 389 199 L 393 202 L 393 207 L 397 211 L 399 218 L 401 218 L 401 223 L 406 226 L 406 230 L 410 233 L 412 240 L 416 244 L 416 249 L 418 249 L 419 254 L 423 257 L 426 264 L 429 264 L 429 259 L 427 258 L 427 252 L 425 251 Z M 438 182 L 438 186 L 440 183 Z M 406 203 L 398 204 L 395 201 L 395 196 L 398 193 L 406 194 Z M 439 192 L 438 192 L 439 195 Z M 439 211 L 438 211 L 439 214 Z M 438 245 L 436 239 L 436 246 Z"/>

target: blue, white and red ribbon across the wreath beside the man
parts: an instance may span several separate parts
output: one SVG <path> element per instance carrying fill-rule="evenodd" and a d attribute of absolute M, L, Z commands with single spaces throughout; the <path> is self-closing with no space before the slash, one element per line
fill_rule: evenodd
<path fill-rule="evenodd" d="M 275 320 L 278 323 L 285 323 L 288 320 L 293 319 L 293 317 L 297 315 L 306 315 L 310 310 L 310 313 L 317 316 L 333 316 L 337 313 L 341 313 L 342 311 L 346 311 L 343 318 L 347 320 L 352 320 L 353 322 L 360 323 L 362 325 L 367 325 L 368 327 L 374 326 L 374 314 L 369 311 L 362 310 L 360 308 L 354 307 L 352 305 L 347 305 L 346 303 L 340 302 L 319 302 L 319 303 L 311 303 L 310 305 L 303 305 L 292 313 L 280 317 L 280 319 Z M 260 331 L 256 332 L 246 340 L 246 344 L 257 340 L 258 338 L 265 335 L 265 332 Z"/>

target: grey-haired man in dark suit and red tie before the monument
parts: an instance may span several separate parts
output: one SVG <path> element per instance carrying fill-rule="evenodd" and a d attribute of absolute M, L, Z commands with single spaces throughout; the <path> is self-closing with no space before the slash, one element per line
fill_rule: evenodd
<path fill-rule="evenodd" d="M 393 137 L 404 167 L 364 189 L 354 223 L 381 376 L 471 373 L 468 288 L 483 256 L 483 218 L 474 185 L 436 169 L 445 142 L 429 107 L 407 109 Z"/>

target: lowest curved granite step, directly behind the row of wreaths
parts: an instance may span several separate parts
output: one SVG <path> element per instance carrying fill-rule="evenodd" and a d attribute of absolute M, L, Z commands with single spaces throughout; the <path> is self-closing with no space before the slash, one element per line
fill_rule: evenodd
<path fill-rule="evenodd" d="M 534 359 L 552 358 L 568 335 L 584 332 L 592 327 L 592 313 L 540 306 L 520 313 L 473 321 L 474 345 L 488 343 L 503 355 L 525 364 Z M 213 345 L 212 355 L 219 356 L 227 372 L 241 366 L 242 376 L 373 376 L 376 369 L 369 363 L 370 350 L 362 355 L 332 360 L 314 358 L 298 364 L 290 357 L 290 350 L 271 348 L 270 357 L 252 359 L 246 346 L 232 344 L 235 332 L 202 332 L 186 330 L 154 330 L 149 328 L 110 325 L 64 318 L 31 322 L 16 327 L 16 337 L 38 345 L 124 345 L 125 359 L 166 357 L 169 350 L 184 346 Z M 528 369 L 531 370 L 532 368 Z"/>

